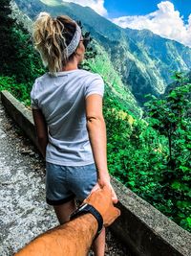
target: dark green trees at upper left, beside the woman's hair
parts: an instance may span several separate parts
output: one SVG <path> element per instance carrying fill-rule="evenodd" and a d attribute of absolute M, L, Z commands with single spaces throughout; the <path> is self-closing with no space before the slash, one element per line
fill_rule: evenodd
<path fill-rule="evenodd" d="M 14 76 L 18 82 L 32 82 L 43 74 L 44 68 L 33 51 L 31 35 L 10 17 L 10 2 L 4 0 L 0 3 L 0 75 Z"/>

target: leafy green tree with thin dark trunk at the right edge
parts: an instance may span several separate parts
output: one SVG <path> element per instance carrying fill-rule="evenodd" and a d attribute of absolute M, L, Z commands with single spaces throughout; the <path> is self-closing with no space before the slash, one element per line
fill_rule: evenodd
<path fill-rule="evenodd" d="M 168 140 L 168 151 L 159 184 L 164 198 L 156 206 L 164 214 L 173 217 L 182 227 L 191 230 L 191 83 L 181 73 L 175 74 L 179 86 L 163 99 L 153 99 L 146 104 L 149 124 Z M 168 202 L 171 202 L 169 211 Z"/>

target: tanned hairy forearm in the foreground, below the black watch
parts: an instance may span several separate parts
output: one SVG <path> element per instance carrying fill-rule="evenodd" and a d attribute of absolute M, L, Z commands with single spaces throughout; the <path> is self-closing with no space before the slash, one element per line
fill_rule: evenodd
<path fill-rule="evenodd" d="M 15 256 L 84 256 L 96 236 L 97 221 L 85 214 L 40 235 Z"/>

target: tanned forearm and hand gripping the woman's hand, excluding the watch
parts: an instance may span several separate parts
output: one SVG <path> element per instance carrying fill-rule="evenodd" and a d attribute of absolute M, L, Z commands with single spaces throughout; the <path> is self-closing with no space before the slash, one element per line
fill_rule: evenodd
<path fill-rule="evenodd" d="M 96 208 L 105 226 L 110 225 L 120 215 L 120 211 L 113 205 L 112 192 L 107 186 L 93 192 L 84 202 Z M 87 255 L 97 228 L 96 218 L 92 214 L 84 214 L 74 221 L 69 221 L 40 235 L 15 256 Z"/>

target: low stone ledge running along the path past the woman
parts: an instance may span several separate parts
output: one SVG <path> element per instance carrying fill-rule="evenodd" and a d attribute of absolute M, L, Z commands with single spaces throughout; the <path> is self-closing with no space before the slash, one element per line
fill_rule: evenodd
<path fill-rule="evenodd" d="M 37 146 L 32 111 L 19 103 L 8 91 L 1 101 L 11 118 Z M 111 226 L 117 237 L 138 256 L 190 256 L 191 234 L 170 221 L 156 208 L 112 177 L 121 210 L 120 218 Z"/>

